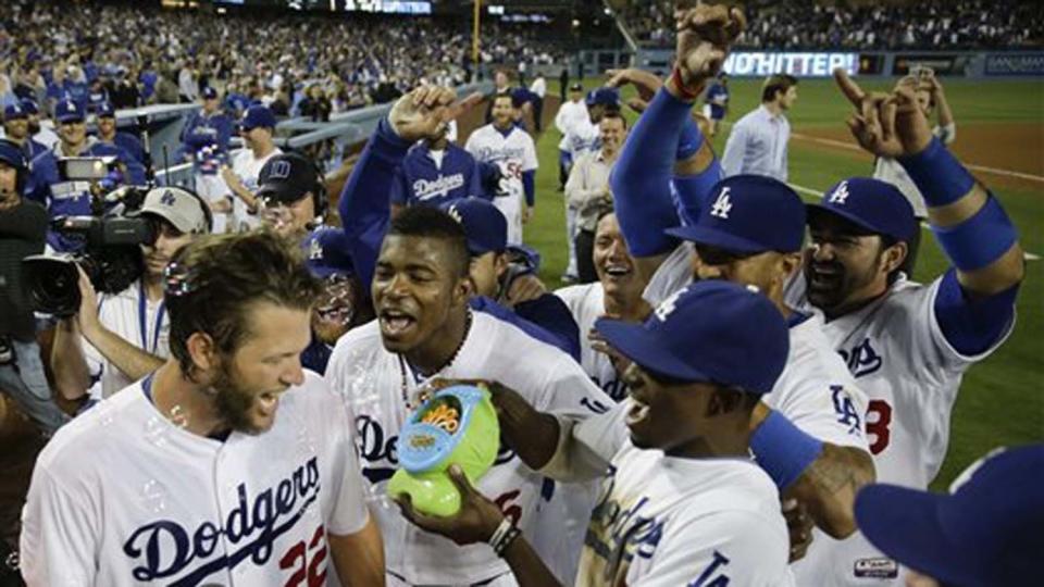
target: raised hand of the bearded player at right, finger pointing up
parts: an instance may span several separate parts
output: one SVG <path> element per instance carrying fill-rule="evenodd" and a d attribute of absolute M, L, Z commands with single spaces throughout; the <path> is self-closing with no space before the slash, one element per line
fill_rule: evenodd
<path fill-rule="evenodd" d="M 834 79 L 856 113 L 846 122 L 859 146 L 877 157 L 897 158 L 924 150 L 932 140 L 924 113 L 917 104 L 917 80 L 902 80 L 892 93 L 866 92 L 841 68 Z"/>

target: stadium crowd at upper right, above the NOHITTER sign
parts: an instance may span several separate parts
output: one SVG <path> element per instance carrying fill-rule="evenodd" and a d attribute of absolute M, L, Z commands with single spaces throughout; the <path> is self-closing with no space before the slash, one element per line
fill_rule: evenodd
<path fill-rule="evenodd" d="M 674 42 L 673 2 L 635 0 L 624 11 L 642 45 Z M 1044 9 L 1017 0 L 930 0 L 833 5 L 815 0 L 745 2 L 751 27 L 737 48 L 1008 49 L 1044 43 Z"/>

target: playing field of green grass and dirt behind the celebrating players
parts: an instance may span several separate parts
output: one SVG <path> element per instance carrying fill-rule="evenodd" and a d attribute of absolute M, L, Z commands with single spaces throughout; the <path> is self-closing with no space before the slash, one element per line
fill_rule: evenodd
<path fill-rule="evenodd" d="M 588 79 L 595 87 L 600 79 Z M 885 82 L 867 83 L 886 89 Z M 759 100 L 759 82 L 732 80 L 731 111 L 735 121 Z M 549 93 L 557 96 L 557 86 Z M 1044 257 L 1044 82 L 946 80 L 946 95 L 957 121 L 954 150 L 965 163 L 990 167 L 975 175 L 1000 198 L 1015 220 L 1022 247 Z M 627 96 L 627 93 L 625 93 Z M 788 114 L 794 138 L 790 146 L 791 182 L 821 191 L 837 180 L 870 175 L 872 160 L 853 149 L 843 121 L 850 107 L 830 80 L 803 80 L 799 99 Z M 552 112 L 554 113 L 554 112 Z M 716 150 L 724 149 L 728 129 L 718 133 Z M 566 267 L 562 195 L 558 187 L 558 140 L 545 132 L 537 143 L 537 212 L 525 238 L 543 258 L 542 274 L 557 287 Z M 1000 173 L 1017 172 L 1017 177 Z M 810 192 L 803 196 L 811 199 Z M 921 247 L 915 278 L 928 282 L 948 266 L 930 235 Z M 991 448 L 1044 441 L 1044 261 L 1027 264 L 1018 302 L 1018 324 L 1011 338 L 990 359 L 966 375 L 953 416 L 949 453 L 934 487 L 945 488 L 972 461 Z M 1034 383 L 1036 382 L 1036 383 Z"/>

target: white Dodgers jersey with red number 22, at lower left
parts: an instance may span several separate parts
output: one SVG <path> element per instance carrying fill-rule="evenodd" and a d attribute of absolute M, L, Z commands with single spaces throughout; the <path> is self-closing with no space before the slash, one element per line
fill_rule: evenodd
<path fill-rule="evenodd" d="M 350 414 L 322 379 L 279 400 L 272 428 L 190 434 L 149 378 L 58 430 L 33 472 L 21 536 L 29 585 L 322 585 L 326 536 L 369 514 Z"/>

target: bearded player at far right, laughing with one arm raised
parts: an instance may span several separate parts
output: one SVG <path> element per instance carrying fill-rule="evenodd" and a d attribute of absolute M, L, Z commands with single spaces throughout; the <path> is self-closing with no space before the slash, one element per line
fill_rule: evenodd
<path fill-rule="evenodd" d="M 870 397 L 878 480 L 925 489 L 946 455 L 965 371 L 1015 327 L 1022 249 L 999 201 L 933 136 L 913 80 L 884 95 L 836 76 L 860 113 L 848 122 L 856 139 L 910 175 L 953 267 L 928 285 L 908 280 L 900 270 L 920 230 L 913 209 L 891 185 L 849 178 L 809 209 L 812 242 L 788 298 L 825 314 L 824 333 Z M 861 534 L 819 541 L 795 567 L 799 579 L 903 585 L 906 567 Z"/>

